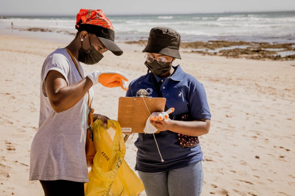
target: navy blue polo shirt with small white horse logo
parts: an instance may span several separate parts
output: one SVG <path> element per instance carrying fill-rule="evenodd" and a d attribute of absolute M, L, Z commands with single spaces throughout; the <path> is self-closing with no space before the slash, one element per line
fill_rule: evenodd
<path fill-rule="evenodd" d="M 204 86 L 196 78 L 185 73 L 180 65 L 173 68 L 176 70 L 171 77 L 155 77 L 163 97 L 166 98 L 167 107 L 175 108 L 175 111 L 171 113 L 174 119 L 177 120 L 177 117 L 182 113 L 190 113 L 191 120 L 211 119 Z M 158 97 L 151 73 L 133 80 L 129 85 L 126 97 L 135 97 L 140 89 L 147 90 L 149 97 Z M 164 172 L 203 160 L 200 144 L 183 148 L 180 146 L 178 134 L 175 132 L 161 131 L 159 134 L 155 134 L 155 138 L 164 162 L 161 162 L 153 134 L 138 134 L 135 141 L 135 146 L 138 149 L 135 170 Z"/>

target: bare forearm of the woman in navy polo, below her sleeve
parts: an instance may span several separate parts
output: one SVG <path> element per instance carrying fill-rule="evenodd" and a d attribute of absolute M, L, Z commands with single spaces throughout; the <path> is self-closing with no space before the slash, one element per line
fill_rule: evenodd
<path fill-rule="evenodd" d="M 169 128 L 170 131 L 189 136 L 207 134 L 209 129 L 209 119 L 205 119 L 205 121 L 171 121 L 171 128 Z"/>

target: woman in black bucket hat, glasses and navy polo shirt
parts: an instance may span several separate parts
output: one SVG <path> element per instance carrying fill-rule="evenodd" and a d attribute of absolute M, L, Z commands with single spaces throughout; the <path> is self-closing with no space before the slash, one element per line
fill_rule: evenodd
<path fill-rule="evenodd" d="M 146 89 L 150 97 L 166 98 L 166 108 L 175 108 L 168 119 L 150 121 L 161 131 L 155 139 L 164 161 L 153 134 L 138 134 L 135 141 L 135 169 L 148 196 L 200 195 L 202 191 L 204 160 L 197 136 L 209 132 L 211 114 L 203 85 L 180 65 L 172 66 L 175 58 L 181 59 L 180 42 L 174 29 L 151 29 L 142 51 L 147 52 L 145 65 L 151 73 L 133 80 L 126 93 L 134 97 Z"/>

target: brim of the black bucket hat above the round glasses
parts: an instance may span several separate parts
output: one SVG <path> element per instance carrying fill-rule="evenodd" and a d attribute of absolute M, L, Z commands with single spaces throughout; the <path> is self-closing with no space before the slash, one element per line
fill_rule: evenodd
<path fill-rule="evenodd" d="M 174 57 L 177 59 L 181 59 L 179 50 L 168 48 L 165 46 L 160 46 L 156 44 L 148 44 L 142 52 L 151 52 L 151 53 L 158 53 L 161 55 L 167 55 L 169 57 Z"/>

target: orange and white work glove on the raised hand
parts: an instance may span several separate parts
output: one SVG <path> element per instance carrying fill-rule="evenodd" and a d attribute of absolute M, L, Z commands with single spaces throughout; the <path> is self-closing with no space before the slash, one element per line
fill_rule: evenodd
<path fill-rule="evenodd" d="M 92 80 L 93 85 L 101 83 L 105 87 L 119 87 L 128 90 L 128 77 L 118 71 L 94 71 L 87 75 Z"/>

